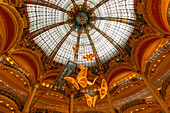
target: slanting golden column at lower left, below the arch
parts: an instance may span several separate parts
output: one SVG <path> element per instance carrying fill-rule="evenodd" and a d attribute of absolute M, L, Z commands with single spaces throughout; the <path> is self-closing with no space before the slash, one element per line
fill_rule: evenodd
<path fill-rule="evenodd" d="M 38 87 L 39 87 L 39 84 L 36 84 L 36 85 L 34 86 L 31 94 L 30 94 L 30 95 L 28 96 L 28 98 L 27 98 L 27 101 L 26 101 L 26 103 L 25 103 L 25 105 L 24 105 L 24 109 L 23 109 L 22 113 L 29 113 L 31 103 L 32 103 L 32 101 L 33 101 L 33 98 L 34 98 L 34 96 L 35 96 L 35 94 L 36 94 L 36 91 L 37 91 Z"/>

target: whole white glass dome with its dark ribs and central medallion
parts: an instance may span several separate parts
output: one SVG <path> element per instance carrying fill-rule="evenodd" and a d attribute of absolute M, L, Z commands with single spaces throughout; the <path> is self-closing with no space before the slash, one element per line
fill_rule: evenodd
<path fill-rule="evenodd" d="M 49 29 L 33 40 L 50 59 L 62 64 L 69 60 L 84 62 L 86 67 L 103 64 L 123 52 L 134 30 L 134 0 L 25 0 L 25 3 L 30 33 Z M 72 47 L 78 49 L 78 55 Z M 82 58 L 93 53 L 97 56 L 92 61 Z"/>

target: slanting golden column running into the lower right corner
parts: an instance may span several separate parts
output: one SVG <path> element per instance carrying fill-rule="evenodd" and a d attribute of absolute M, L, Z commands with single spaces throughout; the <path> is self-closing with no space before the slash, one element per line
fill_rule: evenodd
<path fill-rule="evenodd" d="M 155 86 L 146 78 L 145 75 L 143 75 L 143 74 L 140 74 L 140 75 L 141 75 L 144 83 L 147 85 L 149 90 L 152 92 L 153 96 L 156 98 L 156 100 L 162 107 L 162 109 L 165 111 L 165 113 L 169 113 L 170 111 L 168 110 L 166 103 L 164 102 L 164 100 L 162 99 L 162 97 L 160 96 L 158 91 L 156 90 Z"/>

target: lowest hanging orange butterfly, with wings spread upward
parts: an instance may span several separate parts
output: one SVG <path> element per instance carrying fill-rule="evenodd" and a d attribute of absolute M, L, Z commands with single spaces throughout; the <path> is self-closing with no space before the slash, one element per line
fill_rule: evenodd
<path fill-rule="evenodd" d="M 93 107 L 95 107 L 97 95 L 95 95 L 94 97 L 91 97 L 89 94 L 85 94 L 85 97 L 86 97 L 86 100 L 87 100 L 87 105 L 89 107 L 91 107 L 92 105 L 93 105 Z"/>

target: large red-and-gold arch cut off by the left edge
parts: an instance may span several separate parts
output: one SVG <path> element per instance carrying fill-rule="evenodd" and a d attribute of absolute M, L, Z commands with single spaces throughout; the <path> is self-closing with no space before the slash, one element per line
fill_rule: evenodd
<path fill-rule="evenodd" d="M 2 37 L 0 55 L 8 52 L 21 39 L 24 21 L 11 5 L 0 3 L 0 34 Z"/>

